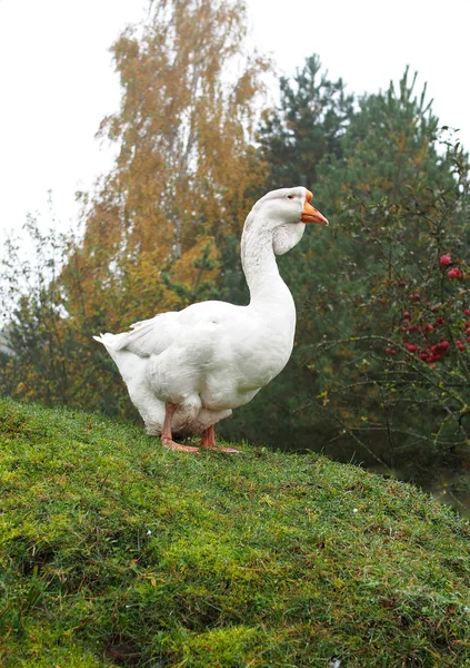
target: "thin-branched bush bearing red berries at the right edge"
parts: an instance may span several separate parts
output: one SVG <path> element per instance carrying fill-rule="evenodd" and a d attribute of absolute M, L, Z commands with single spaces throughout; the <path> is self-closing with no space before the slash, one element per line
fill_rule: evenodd
<path fill-rule="evenodd" d="M 394 193 L 338 202 L 307 366 L 329 442 L 413 479 L 470 466 L 469 170 L 444 148 L 434 183 L 410 167 Z"/>

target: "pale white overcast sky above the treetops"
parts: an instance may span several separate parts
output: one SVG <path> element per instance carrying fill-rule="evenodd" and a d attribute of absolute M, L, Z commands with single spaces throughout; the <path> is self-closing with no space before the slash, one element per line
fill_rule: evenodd
<path fill-rule="evenodd" d="M 318 53 L 350 92 L 377 92 L 407 65 L 442 125 L 470 149 L 470 0 L 247 0 L 250 40 L 290 76 Z M 0 244 L 27 214 L 76 227 L 77 190 L 111 165 L 94 138 L 119 108 L 109 48 L 146 0 L 0 0 Z"/>

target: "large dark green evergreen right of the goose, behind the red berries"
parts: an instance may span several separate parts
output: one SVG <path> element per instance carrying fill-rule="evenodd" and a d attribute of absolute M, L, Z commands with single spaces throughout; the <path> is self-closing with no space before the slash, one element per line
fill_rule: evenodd
<path fill-rule="evenodd" d="M 252 402 L 268 416 L 248 434 L 259 442 L 403 468 L 411 453 L 426 461 L 468 439 L 468 161 L 458 146 L 438 151 L 438 119 L 414 86 L 407 71 L 398 91 L 362 98 L 340 151 L 318 166 L 314 191 L 331 227 L 307 230 L 281 258 L 297 345 Z M 451 277 L 439 264 L 447 252 Z"/>

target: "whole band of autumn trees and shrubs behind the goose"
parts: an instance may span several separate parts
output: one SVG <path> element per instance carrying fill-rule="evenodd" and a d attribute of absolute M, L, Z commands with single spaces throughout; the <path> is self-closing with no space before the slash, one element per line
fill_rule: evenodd
<path fill-rule="evenodd" d="M 468 156 L 408 70 L 358 99 L 312 56 L 263 109 L 269 63 L 244 26 L 241 1 L 160 0 L 113 45 L 121 107 L 100 135 L 116 164 L 80 194 L 81 233 L 30 218 L 36 254 L 7 248 L 0 390 L 137 420 L 91 335 L 208 297 L 246 303 L 244 216 L 300 184 L 332 225 L 280 261 L 294 354 L 224 435 L 456 493 L 470 464 Z"/>

